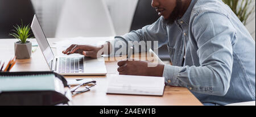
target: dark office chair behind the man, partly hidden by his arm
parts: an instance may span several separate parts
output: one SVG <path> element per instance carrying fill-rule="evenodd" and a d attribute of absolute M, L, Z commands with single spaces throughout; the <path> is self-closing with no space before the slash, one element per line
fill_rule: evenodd
<path fill-rule="evenodd" d="M 139 0 L 130 31 L 139 30 L 146 25 L 154 23 L 159 18 L 160 16 L 156 13 L 155 9 L 151 7 L 151 1 Z M 158 56 L 161 60 L 170 60 L 167 45 L 163 45 L 158 49 Z"/>

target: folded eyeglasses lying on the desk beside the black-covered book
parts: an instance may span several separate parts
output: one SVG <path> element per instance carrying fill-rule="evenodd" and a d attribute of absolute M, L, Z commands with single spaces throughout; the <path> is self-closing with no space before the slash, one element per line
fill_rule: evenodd
<path fill-rule="evenodd" d="M 89 84 L 90 84 L 90 86 L 88 86 Z M 96 81 L 85 82 L 85 83 L 81 83 L 80 85 L 73 87 L 70 91 L 71 91 L 72 95 L 77 95 L 77 94 L 81 94 L 81 93 L 85 93 L 86 91 L 89 91 L 90 88 L 95 85 L 96 85 Z M 81 86 L 84 86 L 84 89 L 80 90 L 80 91 L 76 91 Z"/>

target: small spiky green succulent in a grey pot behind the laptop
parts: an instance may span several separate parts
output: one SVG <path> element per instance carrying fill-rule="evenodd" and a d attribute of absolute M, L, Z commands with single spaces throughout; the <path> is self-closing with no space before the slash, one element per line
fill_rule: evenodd
<path fill-rule="evenodd" d="M 16 41 L 14 43 L 14 51 L 15 56 L 17 59 L 26 59 L 31 57 L 32 52 L 32 43 L 28 41 L 30 39 L 32 33 L 30 32 L 30 24 L 27 26 L 23 26 L 23 23 L 21 26 L 16 25 L 13 26 L 15 28 L 14 33 L 10 33 L 11 36 L 14 36 L 19 41 Z M 29 38 L 30 37 L 30 38 Z"/>

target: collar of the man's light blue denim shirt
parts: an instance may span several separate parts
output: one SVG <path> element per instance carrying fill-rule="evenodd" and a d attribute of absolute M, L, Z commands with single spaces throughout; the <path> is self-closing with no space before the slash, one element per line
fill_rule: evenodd
<path fill-rule="evenodd" d="M 185 22 L 185 23 L 187 23 L 187 24 L 189 23 L 189 19 L 190 19 L 190 17 L 191 17 L 191 12 L 192 12 L 192 9 L 193 9 L 193 7 L 195 6 L 196 2 L 197 2 L 197 0 L 191 0 L 191 3 L 190 3 L 190 5 L 189 5 L 187 11 L 186 11 L 185 14 L 182 16 L 181 19 L 177 20 L 178 22 L 183 21 L 183 22 Z"/>

